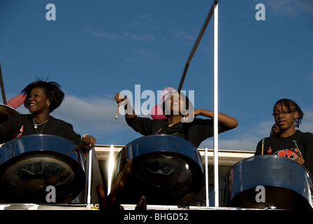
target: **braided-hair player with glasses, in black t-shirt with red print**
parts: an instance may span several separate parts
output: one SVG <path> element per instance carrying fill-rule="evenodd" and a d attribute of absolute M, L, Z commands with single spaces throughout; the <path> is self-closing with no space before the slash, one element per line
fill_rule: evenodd
<path fill-rule="evenodd" d="M 255 155 L 280 155 L 295 160 L 313 174 L 313 134 L 296 130 L 304 116 L 300 106 L 291 99 L 279 99 L 272 116 L 279 133 L 259 141 Z"/>

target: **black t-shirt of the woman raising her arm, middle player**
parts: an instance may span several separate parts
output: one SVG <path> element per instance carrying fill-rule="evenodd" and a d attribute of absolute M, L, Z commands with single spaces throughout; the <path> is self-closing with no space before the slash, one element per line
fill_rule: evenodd
<path fill-rule="evenodd" d="M 127 124 L 136 132 L 148 134 L 174 134 L 190 141 L 196 148 L 205 139 L 214 134 L 212 119 L 195 118 L 191 123 L 177 123 L 168 127 L 167 119 L 152 120 L 150 118 L 135 117 L 126 119 Z M 219 125 L 219 133 L 230 130 L 224 125 Z"/>

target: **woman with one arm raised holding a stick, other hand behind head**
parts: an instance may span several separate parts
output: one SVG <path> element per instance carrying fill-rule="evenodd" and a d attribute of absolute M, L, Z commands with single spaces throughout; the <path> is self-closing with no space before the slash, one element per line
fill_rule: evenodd
<path fill-rule="evenodd" d="M 163 92 L 165 92 L 163 90 Z M 173 134 L 190 141 L 196 148 L 202 141 L 213 136 L 213 111 L 205 109 L 194 110 L 189 99 L 182 92 L 170 90 L 162 97 L 161 108 L 164 119 L 152 120 L 150 118 L 140 118 L 136 116 L 135 111 L 131 108 L 129 99 L 117 93 L 115 101 L 125 107 L 125 119 L 127 124 L 140 134 Z M 189 116 L 187 111 L 192 111 L 194 116 Z M 211 119 L 196 118 L 205 116 Z M 238 121 L 224 113 L 219 113 L 219 133 L 232 130 L 237 127 Z"/>

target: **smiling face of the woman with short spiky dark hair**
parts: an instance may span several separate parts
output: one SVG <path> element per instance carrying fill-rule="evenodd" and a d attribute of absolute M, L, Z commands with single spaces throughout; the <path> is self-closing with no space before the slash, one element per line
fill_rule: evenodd
<path fill-rule="evenodd" d="M 45 94 L 45 88 L 43 87 L 34 87 L 29 93 L 29 99 L 27 101 L 27 108 L 30 113 L 40 114 L 40 113 L 49 113 L 50 100 Z"/>

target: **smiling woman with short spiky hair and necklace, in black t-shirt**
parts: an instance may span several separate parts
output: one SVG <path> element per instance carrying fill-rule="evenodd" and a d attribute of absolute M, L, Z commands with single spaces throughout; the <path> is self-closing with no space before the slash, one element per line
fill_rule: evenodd
<path fill-rule="evenodd" d="M 94 137 L 90 135 L 80 137 L 74 132 L 71 124 L 50 116 L 50 113 L 57 109 L 64 99 L 64 92 L 59 84 L 36 80 L 27 85 L 22 92 L 26 94 L 24 106 L 29 109 L 30 114 L 12 116 L 1 124 L 1 143 L 29 134 L 52 134 L 73 141 L 84 154 L 96 144 Z M 95 155 L 95 153 L 93 154 Z M 102 184 L 99 167 L 94 167 L 94 172 L 97 176 L 96 185 Z M 94 195 L 96 196 L 95 189 L 96 186 L 94 186 Z M 94 200 L 97 200 L 97 196 L 94 197 Z"/>

